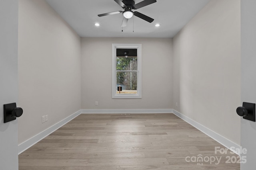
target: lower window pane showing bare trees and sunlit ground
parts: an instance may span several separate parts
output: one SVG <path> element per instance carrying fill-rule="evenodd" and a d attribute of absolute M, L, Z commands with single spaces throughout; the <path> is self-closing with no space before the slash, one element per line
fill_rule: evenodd
<path fill-rule="evenodd" d="M 137 94 L 137 72 L 116 72 L 116 93 Z M 122 87 L 122 91 L 118 91 Z"/>

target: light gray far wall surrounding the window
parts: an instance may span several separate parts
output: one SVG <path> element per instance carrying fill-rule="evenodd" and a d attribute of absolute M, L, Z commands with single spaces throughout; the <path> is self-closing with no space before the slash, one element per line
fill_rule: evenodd
<path fill-rule="evenodd" d="M 142 44 L 141 99 L 112 99 L 112 43 Z M 172 39 L 82 38 L 81 46 L 82 109 L 172 108 Z"/>

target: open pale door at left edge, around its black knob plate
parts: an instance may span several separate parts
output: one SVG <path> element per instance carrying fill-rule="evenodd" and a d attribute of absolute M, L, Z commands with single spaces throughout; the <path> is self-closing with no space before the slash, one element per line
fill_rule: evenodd
<path fill-rule="evenodd" d="M 0 0 L 0 169 L 18 170 L 18 120 L 3 105 L 18 102 L 18 0 Z"/>

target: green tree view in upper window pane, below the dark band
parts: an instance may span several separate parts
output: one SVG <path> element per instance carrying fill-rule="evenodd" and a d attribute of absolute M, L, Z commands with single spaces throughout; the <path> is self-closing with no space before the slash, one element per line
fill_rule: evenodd
<path fill-rule="evenodd" d="M 137 57 L 116 57 L 116 70 L 137 70 Z"/>

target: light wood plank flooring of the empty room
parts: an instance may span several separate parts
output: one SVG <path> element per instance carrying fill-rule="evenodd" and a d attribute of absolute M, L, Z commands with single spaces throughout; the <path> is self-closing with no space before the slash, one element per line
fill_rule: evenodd
<path fill-rule="evenodd" d="M 19 170 L 240 169 L 215 147 L 225 148 L 172 113 L 81 114 L 20 154 Z"/>

